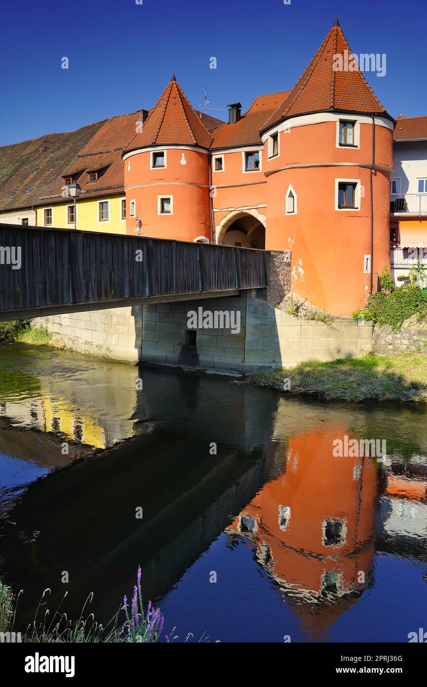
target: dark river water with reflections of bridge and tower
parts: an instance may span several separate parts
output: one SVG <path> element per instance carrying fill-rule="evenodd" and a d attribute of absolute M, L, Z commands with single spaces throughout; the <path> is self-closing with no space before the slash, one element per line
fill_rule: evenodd
<path fill-rule="evenodd" d="M 16 343 L 0 346 L 0 380 L 15 629 L 47 587 L 39 618 L 67 591 L 77 619 L 93 592 L 86 609 L 107 622 L 141 565 L 144 601 L 180 641 L 427 630 L 425 407 L 321 403 Z M 344 436 L 386 440 L 387 458 L 334 457 Z"/>

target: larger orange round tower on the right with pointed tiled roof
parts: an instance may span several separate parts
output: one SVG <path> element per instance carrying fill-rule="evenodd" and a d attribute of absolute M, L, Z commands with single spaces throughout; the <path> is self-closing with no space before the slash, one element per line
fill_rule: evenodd
<path fill-rule="evenodd" d="M 262 131 L 266 249 L 292 251 L 295 293 L 335 315 L 390 267 L 394 125 L 336 20 Z"/>

